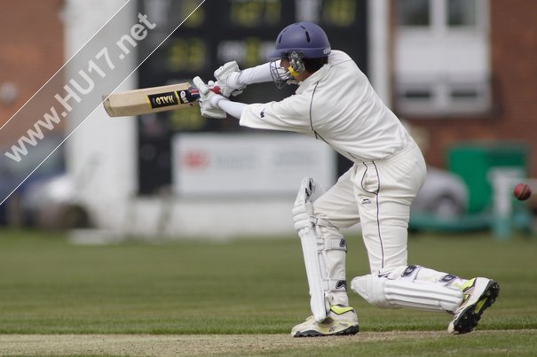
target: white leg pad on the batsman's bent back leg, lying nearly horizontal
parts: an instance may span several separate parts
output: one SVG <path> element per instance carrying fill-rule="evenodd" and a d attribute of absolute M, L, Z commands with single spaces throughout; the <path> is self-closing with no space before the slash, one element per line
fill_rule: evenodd
<path fill-rule="evenodd" d="M 462 302 L 462 291 L 458 289 L 404 278 L 391 280 L 386 276 L 358 276 L 352 279 L 351 288 L 371 305 L 384 308 L 454 312 Z"/>

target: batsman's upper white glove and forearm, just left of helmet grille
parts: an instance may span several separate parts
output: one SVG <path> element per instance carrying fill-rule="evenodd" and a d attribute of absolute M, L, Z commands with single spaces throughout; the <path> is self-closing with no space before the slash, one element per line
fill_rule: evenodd
<path fill-rule="evenodd" d="M 215 78 L 224 97 L 237 96 L 249 84 L 273 81 L 271 62 L 243 70 L 239 68 L 237 62 L 227 62 L 215 71 Z"/>

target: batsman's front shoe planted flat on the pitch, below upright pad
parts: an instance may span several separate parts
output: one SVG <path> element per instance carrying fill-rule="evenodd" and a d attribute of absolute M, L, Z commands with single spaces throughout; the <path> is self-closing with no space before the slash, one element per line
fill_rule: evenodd
<path fill-rule="evenodd" d="M 354 335 L 359 331 L 358 316 L 352 307 L 332 305 L 327 318 L 316 322 L 313 316 L 291 330 L 294 338 Z"/>

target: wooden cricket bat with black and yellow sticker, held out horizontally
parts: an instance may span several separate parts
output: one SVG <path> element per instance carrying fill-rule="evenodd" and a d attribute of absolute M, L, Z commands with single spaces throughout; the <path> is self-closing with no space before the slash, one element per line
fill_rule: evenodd
<path fill-rule="evenodd" d="M 218 87 L 211 90 L 220 91 Z M 112 93 L 103 97 L 103 105 L 110 117 L 121 117 L 184 109 L 199 98 L 198 89 L 185 82 Z"/>

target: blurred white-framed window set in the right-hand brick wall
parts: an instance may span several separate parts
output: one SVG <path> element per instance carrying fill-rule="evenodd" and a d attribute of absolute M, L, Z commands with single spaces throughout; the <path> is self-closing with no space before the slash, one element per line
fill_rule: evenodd
<path fill-rule="evenodd" d="M 408 115 L 486 113 L 488 0 L 398 0 L 395 105 Z"/>

